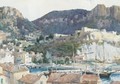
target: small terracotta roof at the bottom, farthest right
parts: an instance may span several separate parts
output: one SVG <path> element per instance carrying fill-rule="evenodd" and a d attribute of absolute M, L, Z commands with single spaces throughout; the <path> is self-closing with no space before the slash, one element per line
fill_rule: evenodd
<path fill-rule="evenodd" d="M 101 83 L 101 79 L 98 75 L 83 74 L 81 76 L 80 84 L 102 84 L 102 83 Z"/>

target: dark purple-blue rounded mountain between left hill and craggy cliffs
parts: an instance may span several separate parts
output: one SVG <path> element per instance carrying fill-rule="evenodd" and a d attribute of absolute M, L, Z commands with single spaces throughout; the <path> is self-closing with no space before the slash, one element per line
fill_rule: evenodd
<path fill-rule="evenodd" d="M 86 24 L 85 17 L 88 12 L 82 9 L 52 11 L 33 23 L 39 26 L 44 34 L 71 34 Z"/>

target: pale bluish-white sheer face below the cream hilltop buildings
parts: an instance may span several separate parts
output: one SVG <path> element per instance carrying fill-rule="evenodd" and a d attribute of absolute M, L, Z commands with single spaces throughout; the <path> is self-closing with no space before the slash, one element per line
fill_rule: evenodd
<path fill-rule="evenodd" d="M 115 57 L 120 56 L 120 48 L 115 47 L 107 42 L 103 44 L 84 44 L 81 46 L 82 53 L 86 54 L 86 60 L 99 60 L 112 62 Z"/>

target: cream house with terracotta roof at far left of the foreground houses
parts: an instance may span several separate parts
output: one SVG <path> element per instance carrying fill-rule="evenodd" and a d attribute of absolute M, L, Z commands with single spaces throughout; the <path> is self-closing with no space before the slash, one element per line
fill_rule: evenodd
<path fill-rule="evenodd" d="M 25 66 L 14 65 L 12 63 L 1 63 L 0 64 L 0 73 L 4 74 L 7 77 L 9 84 L 18 84 L 22 75 L 29 73 L 29 70 Z"/>

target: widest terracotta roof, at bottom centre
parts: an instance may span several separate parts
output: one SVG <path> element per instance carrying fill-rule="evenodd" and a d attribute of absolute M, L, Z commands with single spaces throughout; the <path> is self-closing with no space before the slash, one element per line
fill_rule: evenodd
<path fill-rule="evenodd" d="M 47 84 L 80 84 L 80 74 L 51 73 Z"/>

